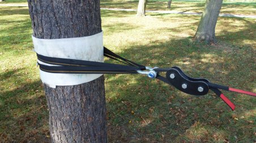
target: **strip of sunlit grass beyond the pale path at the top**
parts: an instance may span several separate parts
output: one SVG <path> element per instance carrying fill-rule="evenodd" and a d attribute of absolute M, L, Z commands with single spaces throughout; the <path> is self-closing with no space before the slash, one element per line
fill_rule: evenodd
<path fill-rule="evenodd" d="M 27 0 L 6 0 L 3 4 L 25 4 Z M 101 7 L 104 8 L 126 8 L 136 9 L 138 1 L 135 0 L 101 0 Z M 205 1 L 174 1 L 170 9 L 167 8 L 167 0 L 148 0 L 147 10 L 171 10 L 179 12 L 202 12 Z M 256 15 L 255 2 L 223 2 L 221 14 Z"/>

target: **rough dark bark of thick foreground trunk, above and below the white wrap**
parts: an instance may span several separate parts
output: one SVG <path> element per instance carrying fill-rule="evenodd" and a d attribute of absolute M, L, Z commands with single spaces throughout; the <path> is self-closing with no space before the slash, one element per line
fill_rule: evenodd
<path fill-rule="evenodd" d="M 28 0 L 33 36 L 86 37 L 101 32 L 100 1 Z M 52 142 L 107 142 L 104 77 L 76 86 L 44 85 Z"/>

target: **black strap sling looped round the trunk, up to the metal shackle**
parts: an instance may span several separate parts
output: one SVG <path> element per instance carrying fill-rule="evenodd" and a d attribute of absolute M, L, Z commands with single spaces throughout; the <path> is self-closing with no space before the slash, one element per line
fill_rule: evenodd
<path fill-rule="evenodd" d="M 133 61 L 130 61 L 121 56 L 118 56 L 116 53 L 113 53 L 112 51 L 108 50 L 108 48 L 106 47 L 104 47 L 104 56 L 109 57 L 110 59 L 113 59 L 113 60 L 120 61 L 126 65 L 48 57 L 48 56 L 43 56 L 37 53 L 37 59 L 39 61 L 45 62 L 46 64 L 59 65 L 59 66 L 49 66 L 49 65 L 39 64 L 41 70 L 49 73 L 134 74 L 136 73 L 136 70 L 146 69 L 146 66 L 136 64 Z"/>

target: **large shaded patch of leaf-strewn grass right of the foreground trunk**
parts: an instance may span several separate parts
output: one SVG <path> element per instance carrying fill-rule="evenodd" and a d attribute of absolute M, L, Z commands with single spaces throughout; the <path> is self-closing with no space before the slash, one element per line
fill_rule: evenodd
<path fill-rule="evenodd" d="M 219 59 L 226 52 L 225 49 L 222 51 L 215 46 L 195 44 L 189 38 L 172 39 L 167 43 L 157 41 L 155 45 L 131 46 L 123 50 L 122 54 L 143 65 L 161 68 L 178 65 L 192 77 L 204 77 L 224 85 L 244 82 L 251 77 L 240 72 L 240 77 L 234 77 L 233 71 L 229 71 L 236 61 L 234 55 L 243 55 L 236 47 L 234 51 L 229 51 L 229 55 Z M 238 66 L 244 64 L 248 64 L 246 60 Z M 248 128 L 251 124 L 248 120 L 253 117 L 241 121 L 232 118 L 233 115 L 244 115 L 246 111 L 254 110 L 251 97 L 224 92 L 229 98 L 236 98 L 231 98 L 238 105 L 237 111 L 233 113 L 212 92 L 195 97 L 141 75 L 105 77 L 109 142 L 216 141 L 212 136 L 219 133 L 224 133 L 220 140 L 228 138 L 230 141 L 241 141 L 246 138 L 245 135 L 253 136 L 253 128 Z M 241 135 L 243 129 L 248 130 Z M 197 131 L 202 133 L 194 135 Z M 233 134 L 239 136 L 238 139 L 230 136 Z M 253 141 L 248 136 L 245 140 Z"/>

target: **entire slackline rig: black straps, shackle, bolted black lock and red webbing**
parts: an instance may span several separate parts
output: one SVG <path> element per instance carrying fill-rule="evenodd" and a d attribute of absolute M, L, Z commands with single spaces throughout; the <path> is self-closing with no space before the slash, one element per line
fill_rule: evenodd
<path fill-rule="evenodd" d="M 251 96 L 256 96 L 256 93 L 254 92 L 249 92 L 249 91 L 243 91 L 243 90 L 238 90 L 235 88 L 231 88 L 228 86 L 221 86 L 219 84 L 211 83 L 207 79 L 204 78 L 191 78 L 187 76 L 180 68 L 177 66 L 173 66 L 172 68 L 148 68 L 144 65 L 137 64 L 133 61 L 127 60 L 116 53 L 108 50 L 108 48 L 104 47 L 104 56 L 109 57 L 110 59 L 122 62 L 125 65 L 120 65 L 120 64 L 110 64 L 106 62 L 95 62 L 95 61 L 84 61 L 84 60 L 74 60 L 74 59 L 63 59 L 63 58 L 56 58 L 56 57 L 48 57 L 48 56 L 43 56 L 39 55 L 37 53 L 37 59 L 41 62 L 44 62 L 46 64 L 51 64 L 54 66 L 50 65 L 44 65 L 40 64 L 40 70 L 48 73 L 67 73 L 67 74 L 147 74 L 148 77 L 149 75 L 155 73 L 156 75 L 153 78 L 159 79 L 160 81 L 163 81 L 167 84 L 170 84 L 178 90 L 181 90 L 182 92 L 189 93 L 190 95 L 205 95 L 208 93 L 208 90 L 212 90 L 216 93 L 217 96 L 219 96 L 226 104 L 229 105 L 229 107 L 234 110 L 235 106 L 234 104 L 227 99 L 221 93 L 221 90 L 226 90 L 226 91 L 233 91 L 233 92 L 238 92 L 238 93 L 244 93 L 247 95 Z M 150 70 L 149 72 L 144 72 L 145 70 Z M 169 73 L 173 71 L 174 73 L 177 73 L 177 78 L 180 78 L 180 80 L 173 82 L 172 80 L 172 73 Z M 144 73 L 143 73 L 144 72 Z M 162 75 L 158 74 L 160 72 L 167 72 L 166 77 L 163 77 Z M 175 77 L 175 76 L 174 76 Z M 175 79 L 173 77 L 173 79 Z M 152 78 L 152 76 L 151 76 Z M 175 81 L 175 80 L 174 80 Z M 180 85 L 183 82 L 189 82 L 189 88 L 180 87 Z M 204 92 L 203 91 L 195 91 L 196 89 L 193 89 L 191 91 L 191 86 L 202 86 L 204 87 Z M 204 85 L 204 86 L 203 86 Z M 183 85 L 182 85 L 183 86 Z M 186 85 L 187 86 L 187 85 Z M 202 88 L 200 87 L 200 88 Z M 208 90 L 207 90 L 208 88 Z M 202 89 L 201 89 L 202 90 Z"/>

